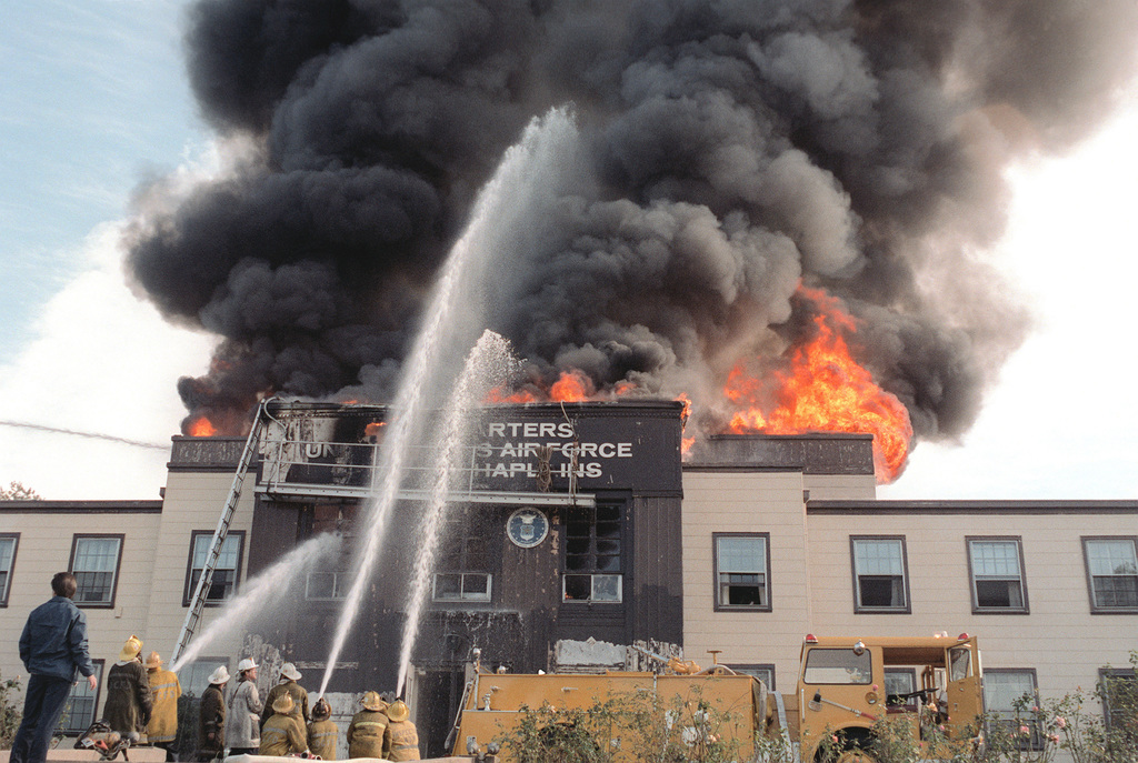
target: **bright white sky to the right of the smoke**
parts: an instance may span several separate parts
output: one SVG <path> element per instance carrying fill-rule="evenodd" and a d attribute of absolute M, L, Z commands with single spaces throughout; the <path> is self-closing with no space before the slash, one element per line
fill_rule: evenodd
<path fill-rule="evenodd" d="M 1039 326 L 962 447 L 924 443 L 879 496 L 1138 497 L 1138 107 L 1063 159 L 1012 175 L 998 252 Z"/>

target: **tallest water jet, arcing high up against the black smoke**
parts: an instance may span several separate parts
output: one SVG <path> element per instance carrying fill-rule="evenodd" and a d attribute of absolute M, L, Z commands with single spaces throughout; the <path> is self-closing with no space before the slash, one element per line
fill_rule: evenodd
<path fill-rule="evenodd" d="M 320 695 L 328 689 L 335 665 L 352 630 L 363 595 L 382 551 L 399 489 L 423 436 L 424 414 L 445 401 L 457 370 L 450 366 L 456 351 L 465 357 L 475 343 L 472 326 L 483 323 L 490 256 L 522 235 L 536 200 L 554 192 L 558 167 L 577 139 L 568 109 L 553 109 L 534 119 L 521 140 L 510 148 L 497 171 L 478 194 L 465 232 L 451 249 L 404 365 L 393 403 L 393 420 L 379 450 L 378 483 L 363 517 L 365 532 L 358 551 L 355 579 L 348 590 L 332 639 Z M 460 310 L 465 310 L 464 320 Z M 478 331 L 478 329 L 473 329 Z M 459 348 L 462 348 L 459 350 Z"/>

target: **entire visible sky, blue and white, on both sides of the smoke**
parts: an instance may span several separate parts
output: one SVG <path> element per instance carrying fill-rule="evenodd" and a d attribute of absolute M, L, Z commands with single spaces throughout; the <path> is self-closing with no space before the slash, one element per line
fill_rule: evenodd
<path fill-rule="evenodd" d="M 165 324 L 126 288 L 118 247 L 147 176 L 207 172 L 212 136 L 185 78 L 185 2 L 0 6 L 0 484 L 47 498 L 157 498 L 213 339 Z M 992 252 L 1038 327 L 976 425 L 922 443 L 883 498 L 1138 498 L 1138 86 L 1070 156 L 1012 171 Z"/>

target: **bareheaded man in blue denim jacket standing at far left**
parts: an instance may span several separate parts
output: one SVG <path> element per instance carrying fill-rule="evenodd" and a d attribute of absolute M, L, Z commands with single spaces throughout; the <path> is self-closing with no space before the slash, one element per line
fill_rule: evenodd
<path fill-rule="evenodd" d="M 94 690 L 94 665 L 86 648 L 86 616 L 72 603 L 75 575 L 57 572 L 55 596 L 32 609 L 19 637 L 19 658 L 27 669 L 24 721 L 11 744 L 10 763 L 43 763 L 51 735 L 79 674 Z"/>

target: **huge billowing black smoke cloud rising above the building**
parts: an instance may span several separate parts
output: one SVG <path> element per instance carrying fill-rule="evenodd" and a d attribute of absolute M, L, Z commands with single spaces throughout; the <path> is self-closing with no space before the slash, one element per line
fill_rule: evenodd
<path fill-rule="evenodd" d="M 493 327 L 547 384 L 688 392 L 809 324 L 951 438 L 1026 313 L 978 252 L 1001 173 L 1086 136 L 1131 75 L 1131 0 L 203 0 L 190 78 L 224 176 L 139 194 L 130 269 L 223 337 L 190 421 L 258 393 L 390 395 L 479 186 L 526 123 L 572 103 L 582 182 L 506 252 Z"/>

